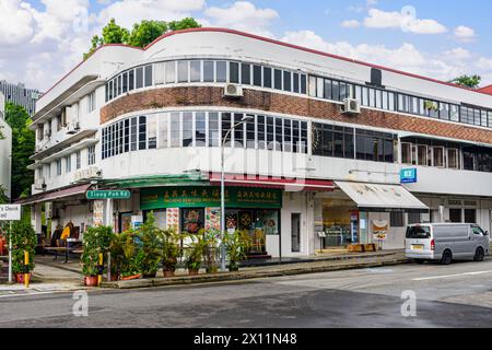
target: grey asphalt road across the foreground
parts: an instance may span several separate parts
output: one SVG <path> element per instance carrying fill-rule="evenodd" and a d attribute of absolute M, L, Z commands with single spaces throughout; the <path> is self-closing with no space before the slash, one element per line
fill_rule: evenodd
<path fill-rule="evenodd" d="M 417 316 L 403 317 L 403 291 Z M 0 327 L 492 327 L 492 260 L 175 288 L 0 298 Z"/>

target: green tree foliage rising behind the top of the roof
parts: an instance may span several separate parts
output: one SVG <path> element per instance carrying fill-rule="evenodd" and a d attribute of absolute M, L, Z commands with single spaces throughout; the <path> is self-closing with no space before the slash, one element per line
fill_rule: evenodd
<path fill-rule="evenodd" d="M 133 24 L 131 32 L 118 24 L 115 19 L 112 19 L 105 27 L 101 36 L 94 35 L 91 40 L 91 48 L 89 52 L 84 54 L 84 59 L 91 56 L 99 46 L 105 44 L 127 44 L 131 46 L 145 47 L 161 35 L 167 32 L 183 31 L 187 28 L 200 27 L 192 18 L 186 18 L 180 21 L 147 21 Z"/>

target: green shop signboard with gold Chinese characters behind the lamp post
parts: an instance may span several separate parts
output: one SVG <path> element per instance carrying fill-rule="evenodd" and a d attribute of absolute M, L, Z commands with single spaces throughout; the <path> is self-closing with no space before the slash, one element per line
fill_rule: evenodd
<path fill-rule="evenodd" d="M 221 206 L 220 187 L 161 187 L 140 192 L 140 209 L 204 208 Z M 227 208 L 282 208 L 282 190 L 269 188 L 226 187 Z"/>

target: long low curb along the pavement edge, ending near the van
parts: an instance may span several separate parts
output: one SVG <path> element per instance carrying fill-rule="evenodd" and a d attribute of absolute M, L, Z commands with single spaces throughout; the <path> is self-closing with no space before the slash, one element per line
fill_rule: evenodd
<path fill-rule="evenodd" d="M 395 266 L 401 264 L 411 262 L 406 258 L 398 258 L 393 260 L 382 260 L 372 262 L 353 262 L 345 265 L 326 265 L 326 266 L 313 266 L 313 267 L 298 267 L 292 269 L 284 269 L 279 271 L 239 271 L 239 272 L 221 272 L 215 275 L 199 275 L 199 276 L 179 276 L 172 278 L 154 278 L 154 279 L 138 279 L 130 281 L 115 281 L 103 282 L 102 288 L 105 289 L 138 289 L 138 288 L 152 288 L 152 287 L 171 287 L 171 285 L 187 285 L 187 284 L 200 284 L 211 282 L 223 281 L 238 281 L 238 280 L 253 280 L 259 278 L 269 277 L 283 277 L 294 275 L 307 275 L 329 271 L 352 270 L 360 268 L 374 268 L 383 266 Z"/>

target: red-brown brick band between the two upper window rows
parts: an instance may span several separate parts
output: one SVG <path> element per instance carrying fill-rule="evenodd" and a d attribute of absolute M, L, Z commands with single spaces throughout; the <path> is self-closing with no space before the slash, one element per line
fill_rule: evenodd
<path fill-rule="evenodd" d="M 244 97 L 230 100 L 223 97 L 222 88 L 214 86 L 162 88 L 127 94 L 101 109 L 101 122 L 107 122 L 127 113 L 179 106 L 261 109 L 266 113 L 306 116 L 492 144 L 492 129 L 484 130 L 365 108 L 358 116 L 349 116 L 341 114 L 340 106 L 330 102 L 249 89 L 244 90 Z"/>

